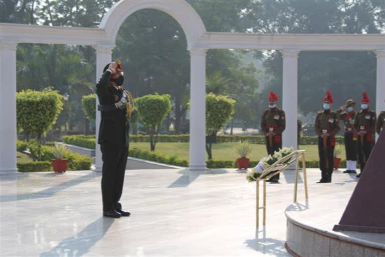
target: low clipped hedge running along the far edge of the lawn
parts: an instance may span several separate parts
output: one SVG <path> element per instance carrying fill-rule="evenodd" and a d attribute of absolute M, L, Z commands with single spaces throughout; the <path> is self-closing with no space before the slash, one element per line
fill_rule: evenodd
<path fill-rule="evenodd" d="M 70 145 L 85 147 L 94 149 L 95 148 L 95 136 L 84 136 L 84 135 L 76 135 L 76 136 L 63 136 L 63 142 Z M 157 138 L 157 142 L 167 142 L 167 143 L 188 143 L 190 140 L 189 135 L 159 135 Z M 336 143 L 344 144 L 342 136 L 336 136 Z M 232 143 L 232 142 L 240 142 L 240 141 L 248 141 L 250 144 L 265 144 L 264 136 L 217 136 L 218 143 Z M 130 142 L 138 143 L 138 142 L 150 142 L 150 137 L 148 135 L 130 135 Z M 317 145 L 318 137 L 316 136 L 304 136 L 300 138 L 300 145 Z"/>

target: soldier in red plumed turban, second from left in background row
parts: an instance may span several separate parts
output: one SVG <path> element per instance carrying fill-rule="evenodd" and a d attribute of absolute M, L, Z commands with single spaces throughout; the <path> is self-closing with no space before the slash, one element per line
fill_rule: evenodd
<path fill-rule="evenodd" d="M 339 132 L 338 115 L 331 110 L 333 97 L 329 90 L 323 99 L 323 110 L 315 117 L 314 129 L 318 135 L 318 155 L 321 180 L 317 183 L 330 183 L 333 173 L 333 152 L 335 134 Z"/>

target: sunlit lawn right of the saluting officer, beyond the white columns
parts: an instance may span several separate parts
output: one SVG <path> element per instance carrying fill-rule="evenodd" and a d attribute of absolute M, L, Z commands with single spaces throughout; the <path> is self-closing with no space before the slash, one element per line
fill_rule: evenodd
<path fill-rule="evenodd" d="M 213 159 L 221 161 L 233 161 L 237 159 L 235 147 L 238 143 L 221 143 L 213 144 Z M 250 159 L 258 161 L 261 157 L 267 155 L 264 145 L 251 144 L 253 151 L 250 154 Z M 130 148 L 138 148 L 141 150 L 150 150 L 150 143 L 130 143 Z M 318 160 L 317 145 L 299 146 L 299 149 L 306 151 L 306 160 Z M 181 159 L 188 160 L 188 143 L 156 143 L 156 153 L 164 153 L 166 155 L 177 155 Z M 207 155 L 206 155 L 207 157 Z M 345 150 L 341 153 L 342 159 L 345 159 Z"/>

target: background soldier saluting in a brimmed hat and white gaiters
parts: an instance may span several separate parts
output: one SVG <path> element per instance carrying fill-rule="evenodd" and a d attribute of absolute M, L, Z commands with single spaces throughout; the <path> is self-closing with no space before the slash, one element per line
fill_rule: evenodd
<path fill-rule="evenodd" d="M 344 143 L 346 153 L 346 171 L 343 173 L 356 173 L 357 165 L 357 131 L 354 129 L 355 101 L 349 99 L 345 105 L 338 109 L 339 119 L 345 125 Z"/>

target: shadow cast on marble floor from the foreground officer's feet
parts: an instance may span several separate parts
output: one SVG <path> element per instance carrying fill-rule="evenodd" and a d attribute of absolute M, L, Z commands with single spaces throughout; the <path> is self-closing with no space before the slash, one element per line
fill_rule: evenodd
<path fill-rule="evenodd" d="M 113 222 L 113 218 L 100 217 L 76 235 L 65 238 L 49 252 L 43 252 L 40 256 L 83 256 L 104 237 Z"/>

